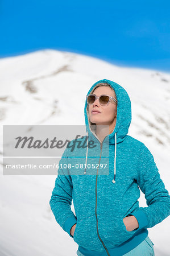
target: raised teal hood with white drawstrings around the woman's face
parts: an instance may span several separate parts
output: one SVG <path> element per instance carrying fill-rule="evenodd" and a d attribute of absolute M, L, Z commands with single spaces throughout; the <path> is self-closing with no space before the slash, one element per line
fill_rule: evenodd
<path fill-rule="evenodd" d="M 114 89 L 117 97 L 117 121 L 116 121 L 116 125 L 113 132 L 108 135 L 109 144 L 115 144 L 115 159 L 114 159 L 114 167 L 115 167 L 114 174 L 115 174 L 115 171 L 116 171 L 115 164 L 116 164 L 116 154 L 117 154 L 116 146 L 117 146 L 117 143 L 122 142 L 126 138 L 126 135 L 128 133 L 128 128 L 131 123 L 131 101 L 130 101 L 130 97 L 128 96 L 128 93 L 121 85 L 107 79 L 102 79 L 95 82 L 95 84 L 93 84 L 92 87 L 89 89 L 89 92 L 87 95 L 89 95 L 90 92 L 92 92 L 93 88 L 100 82 L 107 82 L 107 84 L 109 84 Z M 86 110 L 87 105 L 88 105 L 87 102 L 85 102 L 84 114 L 85 114 L 86 132 L 88 133 L 88 137 L 91 137 L 91 136 L 97 137 L 95 132 L 92 131 L 89 123 L 89 118 Z M 86 163 L 87 163 L 87 158 L 88 158 L 88 147 L 86 150 Z M 85 168 L 84 174 L 86 174 L 86 168 Z M 114 175 L 113 183 L 115 183 L 115 175 Z"/>

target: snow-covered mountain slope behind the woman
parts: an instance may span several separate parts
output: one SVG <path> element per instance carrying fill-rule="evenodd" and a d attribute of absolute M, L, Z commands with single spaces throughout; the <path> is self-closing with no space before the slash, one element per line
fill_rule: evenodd
<path fill-rule="evenodd" d="M 100 79 L 127 90 L 132 104 L 128 135 L 150 149 L 170 191 L 169 73 L 45 49 L 0 59 L 0 74 L 0 255 L 76 255 L 77 244 L 49 207 L 56 177 L 2 175 L 2 125 L 85 125 L 85 96 Z M 147 206 L 142 192 L 140 206 Z M 170 254 L 169 223 L 166 218 L 148 229 L 156 256 Z"/>

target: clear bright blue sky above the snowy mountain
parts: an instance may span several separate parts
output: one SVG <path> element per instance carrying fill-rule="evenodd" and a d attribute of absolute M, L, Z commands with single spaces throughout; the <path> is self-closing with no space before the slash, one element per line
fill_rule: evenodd
<path fill-rule="evenodd" d="M 0 1 L 0 57 L 57 49 L 170 71 L 170 1 Z"/>

